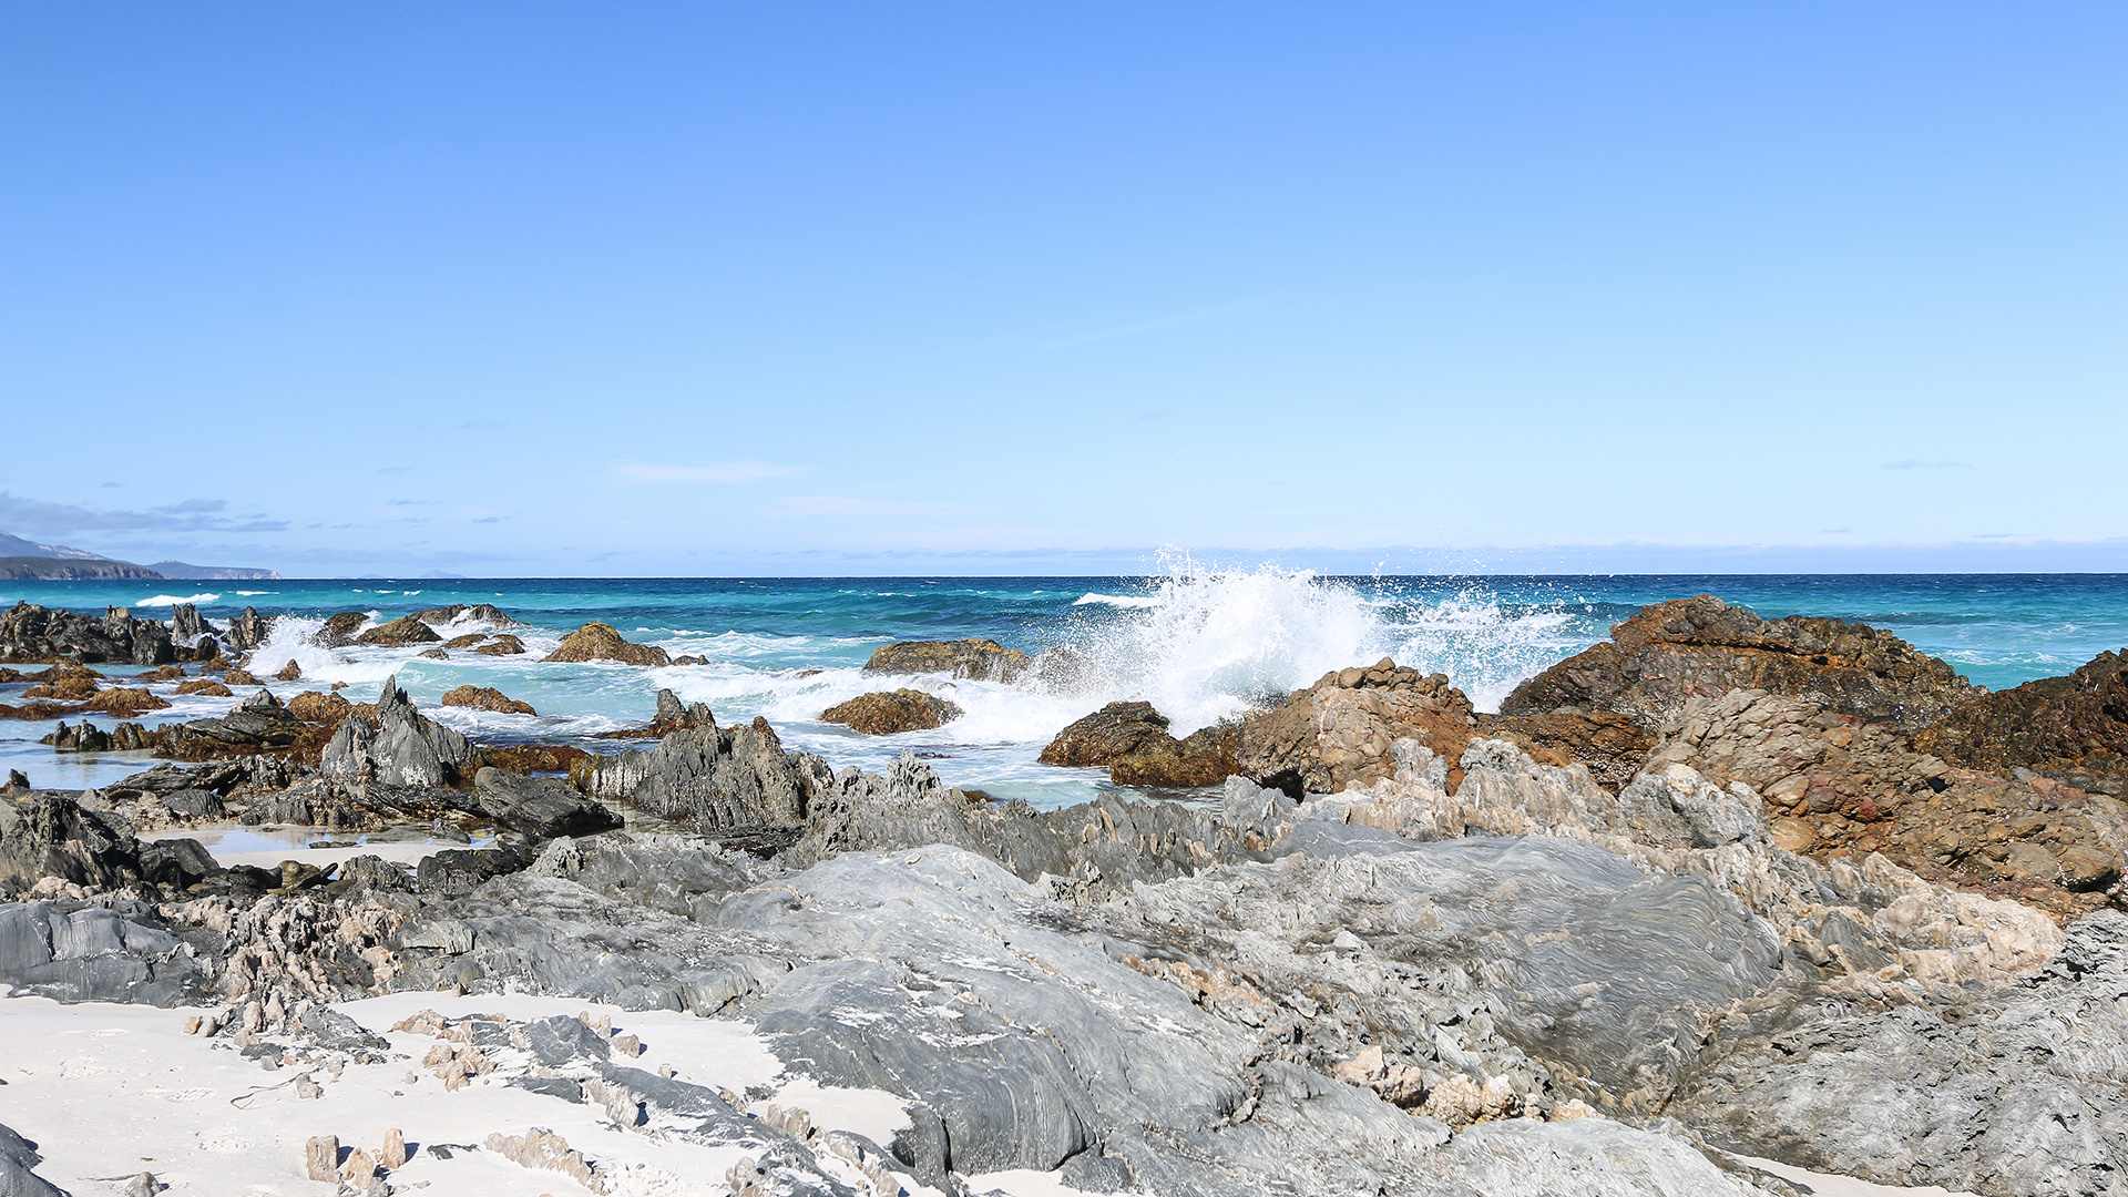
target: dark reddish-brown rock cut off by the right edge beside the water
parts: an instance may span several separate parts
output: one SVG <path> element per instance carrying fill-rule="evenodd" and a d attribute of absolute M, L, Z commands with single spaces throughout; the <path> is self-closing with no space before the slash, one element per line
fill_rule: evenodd
<path fill-rule="evenodd" d="M 2102 652 L 2066 677 L 1975 694 L 1924 728 L 1915 748 L 1968 769 L 2022 767 L 2128 797 L 2128 654 Z"/>

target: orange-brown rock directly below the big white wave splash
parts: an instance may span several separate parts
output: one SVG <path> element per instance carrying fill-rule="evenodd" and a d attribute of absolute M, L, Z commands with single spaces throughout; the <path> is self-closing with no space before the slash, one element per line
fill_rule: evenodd
<path fill-rule="evenodd" d="M 1315 686 L 1241 728 L 1238 773 L 1292 797 L 1326 794 L 1396 773 L 1390 745 L 1419 739 L 1458 760 L 1477 720 L 1447 675 L 1422 675 L 1390 658 L 1326 673 Z M 1453 786 L 1456 769 L 1449 771 Z"/>

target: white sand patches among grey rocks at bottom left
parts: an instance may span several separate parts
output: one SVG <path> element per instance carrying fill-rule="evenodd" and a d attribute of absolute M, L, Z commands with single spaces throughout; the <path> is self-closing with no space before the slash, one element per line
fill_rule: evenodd
<path fill-rule="evenodd" d="M 498 1073 L 455 1093 L 428 1076 L 419 1059 L 434 1039 L 394 1033 L 389 1027 L 419 1010 L 445 1016 L 506 1014 L 543 1018 L 587 1010 L 613 1018 L 615 1031 L 647 1046 L 638 1067 L 668 1065 L 681 1080 L 745 1093 L 768 1086 L 768 1101 L 802 1108 L 813 1125 L 892 1137 L 907 1122 L 898 1097 L 877 1091 L 821 1088 L 792 1082 L 764 1042 L 745 1022 L 694 1018 L 679 1012 L 624 1012 L 609 1005 L 545 997 L 392 995 L 340 1005 L 355 1022 L 392 1039 L 394 1059 L 379 1065 L 349 1063 L 338 1080 L 311 1076 L 323 1097 L 302 1101 L 287 1084 L 300 1069 L 262 1069 L 228 1048 L 226 1039 L 183 1033 L 194 1010 L 140 1005 L 60 1005 L 40 997 L 0 1001 L 0 1122 L 38 1144 L 40 1176 L 77 1197 L 111 1193 L 126 1178 L 153 1171 L 172 1197 L 198 1195 L 317 1195 L 326 1184 L 304 1176 L 311 1135 L 338 1135 L 343 1146 L 377 1152 L 385 1131 L 398 1127 L 415 1157 L 394 1171 L 394 1184 L 434 1182 L 434 1193 L 466 1197 L 519 1197 L 532 1193 L 585 1193 L 555 1171 L 528 1171 L 492 1152 L 455 1152 L 440 1161 L 428 1144 L 481 1144 L 492 1131 L 521 1135 L 545 1127 L 613 1180 L 619 1197 L 726 1195 L 726 1171 L 738 1148 L 704 1148 L 655 1133 L 613 1127 L 596 1105 L 509 1088 L 502 1076 L 521 1071 L 517 1052 L 496 1052 Z M 406 1073 L 417 1073 L 409 1082 Z M 253 1095 L 240 1108 L 232 1099 Z M 845 1118 L 849 1114 L 849 1118 Z M 647 1131 L 655 1131 L 655 1122 Z M 832 1157 L 824 1165 L 838 1167 Z M 858 1176 L 851 1171 L 849 1182 Z M 930 1193 L 902 1178 L 909 1193 Z M 1032 1191 L 1030 1191 L 1032 1197 Z"/>

